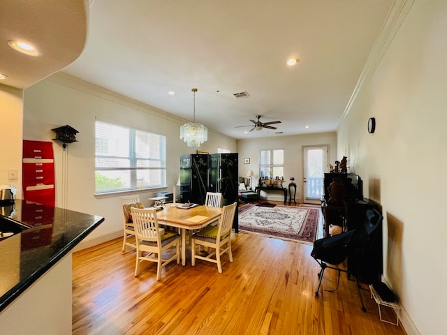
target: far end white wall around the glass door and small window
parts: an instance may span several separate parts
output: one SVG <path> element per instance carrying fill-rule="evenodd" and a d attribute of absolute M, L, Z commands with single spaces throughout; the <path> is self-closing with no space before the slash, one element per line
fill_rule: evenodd
<path fill-rule="evenodd" d="M 240 177 L 246 177 L 247 171 L 253 170 L 253 184 L 257 186 L 259 179 L 259 152 L 265 149 L 284 149 L 284 181 L 288 183 L 290 176 L 295 177 L 297 184 L 295 200 L 302 202 L 302 147 L 314 145 L 328 145 L 328 164 L 332 163 L 333 165 L 337 161 L 337 134 L 335 132 L 237 140 L 239 175 Z M 244 164 L 244 158 L 250 158 L 250 164 Z M 343 157 L 338 158 L 340 161 Z M 281 201 L 284 199 L 284 196 L 280 193 L 270 192 L 261 193 L 261 197 L 267 200 Z"/>

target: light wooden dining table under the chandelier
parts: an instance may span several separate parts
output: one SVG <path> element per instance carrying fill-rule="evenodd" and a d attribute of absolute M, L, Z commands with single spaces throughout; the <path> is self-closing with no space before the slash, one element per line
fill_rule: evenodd
<path fill-rule="evenodd" d="M 219 218 L 221 214 L 221 208 L 204 205 L 182 208 L 182 204 L 165 204 L 163 209 L 156 211 L 156 217 L 161 225 L 180 230 L 182 265 L 186 265 L 186 230 L 203 228 Z"/>

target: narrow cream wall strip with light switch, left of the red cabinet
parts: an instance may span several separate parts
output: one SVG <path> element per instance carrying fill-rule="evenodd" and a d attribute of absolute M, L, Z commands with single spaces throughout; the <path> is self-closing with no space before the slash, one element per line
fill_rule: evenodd
<path fill-rule="evenodd" d="M 22 102 L 23 91 L 0 84 L 0 185 L 17 188 L 22 198 Z M 8 179 L 8 170 L 17 170 L 17 179 Z"/>

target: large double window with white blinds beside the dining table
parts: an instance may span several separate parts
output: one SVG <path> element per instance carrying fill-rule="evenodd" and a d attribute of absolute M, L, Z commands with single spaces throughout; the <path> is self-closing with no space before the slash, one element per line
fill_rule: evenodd
<path fill-rule="evenodd" d="M 166 187 L 166 136 L 96 121 L 96 193 Z"/>

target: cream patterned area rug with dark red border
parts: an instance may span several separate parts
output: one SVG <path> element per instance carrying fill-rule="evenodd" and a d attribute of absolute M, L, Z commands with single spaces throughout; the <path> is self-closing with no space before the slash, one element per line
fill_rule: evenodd
<path fill-rule="evenodd" d="M 314 243 L 318 229 L 318 207 L 259 207 L 245 204 L 239 208 L 239 229 L 278 239 Z"/>

